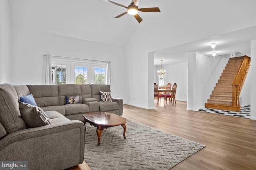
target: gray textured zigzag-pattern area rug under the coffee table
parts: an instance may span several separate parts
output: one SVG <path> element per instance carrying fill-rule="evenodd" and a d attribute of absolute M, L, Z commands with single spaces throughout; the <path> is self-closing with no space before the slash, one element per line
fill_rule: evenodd
<path fill-rule="evenodd" d="M 127 120 L 104 129 L 97 146 L 96 127 L 86 123 L 84 160 L 92 170 L 168 170 L 204 148 L 180 137 Z"/>

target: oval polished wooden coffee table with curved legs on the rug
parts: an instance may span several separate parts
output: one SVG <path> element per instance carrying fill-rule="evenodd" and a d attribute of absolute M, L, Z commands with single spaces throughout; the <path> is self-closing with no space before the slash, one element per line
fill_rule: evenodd
<path fill-rule="evenodd" d="M 96 132 L 98 136 L 98 146 L 100 146 L 100 135 L 103 129 L 113 126 L 121 125 L 124 128 L 124 139 L 126 139 L 126 118 L 116 115 L 114 113 L 108 113 L 104 111 L 96 111 L 91 113 L 86 113 L 84 117 L 84 127 L 85 123 L 89 122 L 90 125 L 97 127 Z M 85 129 L 86 130 L 86 129 Z"/>

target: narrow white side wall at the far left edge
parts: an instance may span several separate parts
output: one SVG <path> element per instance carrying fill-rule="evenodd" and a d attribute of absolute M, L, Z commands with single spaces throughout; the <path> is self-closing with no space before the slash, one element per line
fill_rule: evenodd
<path fill-rule="evenodd" d="M 0 0 L 0 84 L 10 83 L 10 26 L 8 0 Z"/>

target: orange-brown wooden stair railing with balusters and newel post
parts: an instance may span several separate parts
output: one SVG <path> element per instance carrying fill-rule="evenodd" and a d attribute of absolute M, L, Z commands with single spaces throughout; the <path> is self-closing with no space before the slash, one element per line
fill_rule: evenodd
<path fill-rule="evenodd" d="M 234 82 L 232 84 L 232 106 L 240 106 L 239 95 L 243 86 L 243 81 L 247 75 L 248 66 L 250 66 L 251 58 L 248 56 L 244 56 L 244 59 L 240 65 L 240 69 L 238 70 Z"/>

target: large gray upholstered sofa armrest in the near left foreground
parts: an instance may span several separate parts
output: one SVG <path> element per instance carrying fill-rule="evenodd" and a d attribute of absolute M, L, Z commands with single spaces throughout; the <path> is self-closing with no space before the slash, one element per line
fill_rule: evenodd
<path fill-rule="evenodd" d="M 84 133 L 77 120 L 15 131 L 0 140 L 0 158 L 26 160 L 30 169 L 70 168 L 84 161 Z"/>

